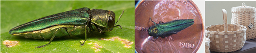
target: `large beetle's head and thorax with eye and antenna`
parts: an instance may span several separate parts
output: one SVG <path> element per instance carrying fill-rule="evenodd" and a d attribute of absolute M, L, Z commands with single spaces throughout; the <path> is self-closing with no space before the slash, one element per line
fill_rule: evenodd
<path fill-rule="evenodd" d="M 122 14 L 123 13 L 124 11 L 122 12 Z M 116 24 L 121 18 L 122 14 L 116 23 L 115 23 L 115 13 L 113 11 L 107 11 L 102 9 L 91 9 L 91 14 L 92 14 L 91 22 L 93 23 L 93 25 L 96 26 L 94 29 L 102 30 L 102 32 L 105 32 L 105 31 L 109 32 L 113 30 L 114 27 L 120 26 Z"/>

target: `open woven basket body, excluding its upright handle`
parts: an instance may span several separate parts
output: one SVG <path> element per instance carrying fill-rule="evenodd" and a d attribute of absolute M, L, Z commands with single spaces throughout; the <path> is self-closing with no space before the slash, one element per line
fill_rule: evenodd
<path fill-rule="evenodd" d="M 232 52 L 241 49 L 246 41 L 247 28 L 243 25 L 228 24 L 228 31 L 224 32 L 224 25 L 205 27 L 205 34 L 210 42 L 210 50 L 215 52 Z"/>

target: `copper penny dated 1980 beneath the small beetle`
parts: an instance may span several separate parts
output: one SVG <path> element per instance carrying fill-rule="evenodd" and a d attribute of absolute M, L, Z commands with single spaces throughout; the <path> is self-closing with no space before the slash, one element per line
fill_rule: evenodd
<path fill-rule="evenodd" d="M 194 19 L 195 23 L 177 34 L 154 40 L 147 32 L 153 26 L 149 18 L 159 24 Z M 204 27 L 201 13 L 193 1 L 141 1 L 135 8 L 135 49 L 139 53 L 195 53 L 201 46 Z"/>

